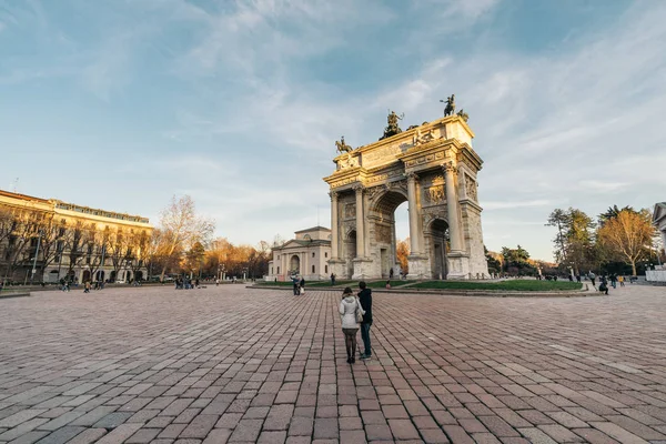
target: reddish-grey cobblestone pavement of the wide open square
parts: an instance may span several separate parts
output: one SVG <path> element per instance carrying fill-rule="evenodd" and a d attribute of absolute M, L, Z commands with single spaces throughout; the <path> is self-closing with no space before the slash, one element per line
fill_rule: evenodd
<path fill-rule="evenodd" d="M 0 442 L 666 443 L 666 289 L 375 294 L 225 285 L 0 300 Z"/>

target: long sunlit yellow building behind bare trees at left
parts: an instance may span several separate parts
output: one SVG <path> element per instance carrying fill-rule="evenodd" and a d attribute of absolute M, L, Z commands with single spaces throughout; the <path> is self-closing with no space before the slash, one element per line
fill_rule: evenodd
<path fill-rule="evenodd" d="M 0 190 L 0 280 L 141 281 L 152 230 L 139 215 Z"/>

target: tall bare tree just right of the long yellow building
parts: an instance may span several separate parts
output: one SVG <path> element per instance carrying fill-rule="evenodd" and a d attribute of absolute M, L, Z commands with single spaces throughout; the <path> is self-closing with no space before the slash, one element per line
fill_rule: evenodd
<path fill-rule="evenodd" d="M 171 199 L 160 219 L 165 256 L 180 255 L 189 251 L 196 242 L 205 244 L 215 230 L 213 221 L 196 214 L 194 201 L 189 195 Z M 164 280 L 167 262 L 162 265 L 160 279 Z"/>

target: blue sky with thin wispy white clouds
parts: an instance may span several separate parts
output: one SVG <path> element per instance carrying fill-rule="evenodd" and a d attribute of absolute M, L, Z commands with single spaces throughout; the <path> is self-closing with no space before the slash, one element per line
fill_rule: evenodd
<path fill-rule="evenodd" d="M 154 224 L 190 194 L 233 243 L 290 239 L 330 225 L 341 134 L 455 93 L 485 244 L 553 260 L 554 209 L 666 200 L 665 22 L 657 0 L 0 0 L 0 189 Z"/>

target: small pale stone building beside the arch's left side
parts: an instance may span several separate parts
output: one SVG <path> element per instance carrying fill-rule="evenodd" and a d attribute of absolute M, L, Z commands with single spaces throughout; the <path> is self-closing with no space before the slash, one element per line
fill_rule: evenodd
<path fill-rule="evenodd" d="M 294 234 L 295 239 L 273 248 L 273 260 L 269 262 L 269 274 L 264 279 L 286 281 L 294 274 L 303 276 L 305 282 L 329 279 L 331 230 L 313 226 Z"/>

